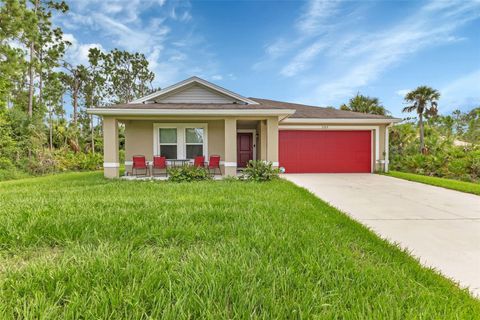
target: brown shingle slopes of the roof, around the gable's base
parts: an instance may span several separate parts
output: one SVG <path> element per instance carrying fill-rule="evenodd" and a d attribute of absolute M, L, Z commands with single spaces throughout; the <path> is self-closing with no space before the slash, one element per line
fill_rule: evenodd
<path fill-rule="evenodd" d="M 319 119 L 392 119 L 392 117 L 344 111 L 334 108 L 309 106 L 260 98 L 249 98 L 258 104 L 221 104 L 221 103 L 129 103 L 116 104 L 110 109 L 179 109 L 179 110 L 255 110 L 255 109 L 293 109 L 296 112 L 289 118 L 319 118 Z"/>

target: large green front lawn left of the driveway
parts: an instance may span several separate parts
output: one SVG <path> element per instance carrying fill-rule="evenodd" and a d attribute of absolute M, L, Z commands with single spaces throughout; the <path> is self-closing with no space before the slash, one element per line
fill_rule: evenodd
<path fill-rule="evenodd" d="M 0 183 L 0 318 L 479 319 L 480 302 L 279 180 Z"/>

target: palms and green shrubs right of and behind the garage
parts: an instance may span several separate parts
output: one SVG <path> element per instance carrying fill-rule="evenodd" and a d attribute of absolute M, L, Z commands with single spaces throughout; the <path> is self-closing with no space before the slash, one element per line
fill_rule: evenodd
<path fill-rule="evenodd" d="M 390 129 L 390 168 L 424 175 L 480 181 L 480 107 L 441 115 L 440 92 L 419 86 L 404 97 L 415 113 Z M 390 115 L 378 98 L 358 93 L 341 110 Z"/>

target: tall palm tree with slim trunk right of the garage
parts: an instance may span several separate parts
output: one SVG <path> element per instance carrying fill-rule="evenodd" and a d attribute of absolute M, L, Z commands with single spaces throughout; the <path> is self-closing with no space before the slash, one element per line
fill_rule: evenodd
<path fill-rule="evenodd" d="M 404 100 L 410 105 L 403 108 L 403 112 L 416 111 L 418 114 L 418 127 L 420 128 L 420 152 L 425 152 L 423 117 L 435 116 L 438 112 L 438 99 L 440 92 L 427 87 L 420 86 L 405 95 Z"/>

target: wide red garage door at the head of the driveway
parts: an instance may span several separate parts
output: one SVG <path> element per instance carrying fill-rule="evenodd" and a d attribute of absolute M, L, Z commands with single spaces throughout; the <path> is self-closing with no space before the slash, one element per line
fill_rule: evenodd
<path fill-rule="evenodd" d="M 370 131 L 283 130 L 280 167 L 286 173 L 371 172 Z"/>

